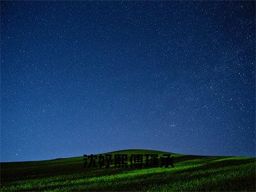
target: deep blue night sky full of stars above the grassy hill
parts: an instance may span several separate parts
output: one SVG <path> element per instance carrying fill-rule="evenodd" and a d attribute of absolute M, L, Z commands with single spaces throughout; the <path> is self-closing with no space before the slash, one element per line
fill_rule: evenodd
<path fill-rule="evenodd" d="M 1 1 L 1 161 L 255 156 L 255 1 Z"/>

